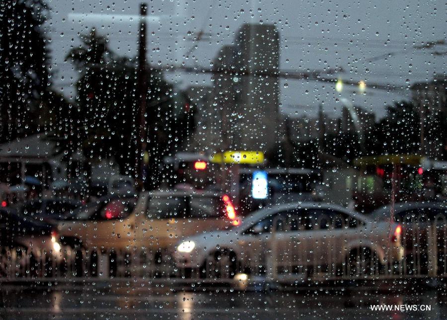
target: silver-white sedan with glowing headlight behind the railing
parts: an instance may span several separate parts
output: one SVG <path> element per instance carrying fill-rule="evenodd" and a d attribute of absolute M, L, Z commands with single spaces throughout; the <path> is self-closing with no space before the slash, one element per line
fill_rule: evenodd
<path fill-rule="evenodd" d="M 389 231 L 391 230 L 391 234 Z M 176 266 L 202 277 L 332 273 L 373 274 L 402 259 L 401 227 L 315 202 L 262 209 L 239 226 L 179 241 Z"/>

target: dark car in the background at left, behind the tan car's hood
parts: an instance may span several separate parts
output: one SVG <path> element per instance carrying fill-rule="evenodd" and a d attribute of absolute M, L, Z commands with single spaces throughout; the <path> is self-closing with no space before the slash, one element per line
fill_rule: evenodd
<path fill-rule="evenodd" d="M 43 198 L 29 200 L 16 206 L 16 209 L 24 216 L 35 220 L 51 221 L 65 219 L 80 206 L 82 202 L 74 199 Z"/>

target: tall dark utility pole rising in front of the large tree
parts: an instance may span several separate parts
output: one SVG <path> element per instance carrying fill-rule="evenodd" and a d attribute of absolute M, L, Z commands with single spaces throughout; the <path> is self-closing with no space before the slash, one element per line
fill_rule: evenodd
<path fill-rule="evenodd" d="M 138 46 L 138 69 L 137 69 L 137 81 L 138 81 L 138 97 L 140 105 L 140 119 L 139 129 L 137 129 L 137 161 L 135 167 L 135 181 L 137 188 L 144 189 L 144 182 L 146 176 L 144 176 L 144 153 L 146 152 L 146 100 L 148 94 L 147 83 L 147 65 L 146 65 L 146 15 L 147 4 L 140 3 L 140 32 L 139 32 L 139 46 Z"/>

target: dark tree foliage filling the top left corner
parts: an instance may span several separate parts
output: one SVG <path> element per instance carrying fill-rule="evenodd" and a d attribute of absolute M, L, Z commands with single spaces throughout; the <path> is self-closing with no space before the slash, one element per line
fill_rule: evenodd
<path fill-rule="evenodd" d="M 41 0 L 0 1 L 0 142 L 35 132 L 48 98 L 49 51 Z"/>

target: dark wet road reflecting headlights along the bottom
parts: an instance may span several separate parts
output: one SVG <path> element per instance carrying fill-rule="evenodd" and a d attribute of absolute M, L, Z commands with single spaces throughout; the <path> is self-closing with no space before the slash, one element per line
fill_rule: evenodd
<path fill-rule="evenodd" d="M 176 291 L 169 285 L 2 285 L 1 319 L 446 319 L 444 289 L 238 292 Z M 427 305 L 431 311 L 371 311 L 371 305 Z"/>

